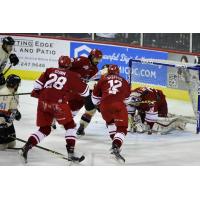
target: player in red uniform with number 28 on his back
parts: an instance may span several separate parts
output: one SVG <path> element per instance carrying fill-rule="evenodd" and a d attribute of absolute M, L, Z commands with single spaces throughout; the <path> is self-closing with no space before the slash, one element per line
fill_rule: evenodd
<path fill-rule="evenodd" d="M 51 132 L 51 124 L 55 118 L 64 126 L 68 159 L 80 161 L 74 155 L 76 142 L 75 123 L 68 105 L 69 93 L 73 91 L 81 96 L 89 95 L 89 87 L 80 77 L 68 70 L 71 59 L 67 56 L 59 58 L 59 68 L 48 68 L 35 82 L 31 96 L 38 98 L 37 126 L 39 130 L 33 133 L 20 154 L 27 161 L 28 151 L 36 146 Z"/>

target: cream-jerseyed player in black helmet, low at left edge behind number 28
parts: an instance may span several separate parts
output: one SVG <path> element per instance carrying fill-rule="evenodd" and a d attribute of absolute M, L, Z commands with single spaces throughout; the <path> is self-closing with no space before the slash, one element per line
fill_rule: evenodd
<path fill-rule="evenodd" d="M 16 145 L 13 120 L 21 119 L 17 109 L 19 97 L 15 94 L 20 82 L 19 76 L 11 74 L 6 79 L 6 85 L 0 89 L 0 150 L 14 148 Z"/>

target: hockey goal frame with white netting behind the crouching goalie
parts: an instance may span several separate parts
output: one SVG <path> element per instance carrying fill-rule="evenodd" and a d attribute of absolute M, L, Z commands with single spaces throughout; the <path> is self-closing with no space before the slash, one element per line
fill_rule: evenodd
<path fill-rule="evenodd" d="M 129 60 L 128 73 L 130 84 L 140 82 L 138 79 L 135 80 L 134 69 L 142 69 L 144 66 L 149 69 L 151 69 L 152 66 L 154 68 L 167 68 L 167 84 L 165 87 L 188 91 L 190 103 L 193 109 L 193 116 L 180 116 L 192 121 L 191 123 L 193 124 L 195 123 L 196 133 L 198 134 L 200 132 L 200 65 L 172 60 L 131 59 Z M 160 74 L 159 76 L 165 76 L 165 74 Z M 151 85 L 151 83 L 148 83 L 148 85 L 149 84 Z M 184 106 L 182 109 L 185 109 Z"/>

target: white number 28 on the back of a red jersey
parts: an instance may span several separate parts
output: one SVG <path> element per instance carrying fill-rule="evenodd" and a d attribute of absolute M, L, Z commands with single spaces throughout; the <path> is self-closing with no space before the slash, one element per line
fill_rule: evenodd
<path fill-rule="evenodd" d="M 44 88 L 54 87 L 57 90 L 62 90 L 63 86 L 67 82 L 66 77 L 64 77 L 64 76 L 58 77 L 57 74 L 53 74 L 53 73 L 49 75 L 49 78 L 51 78 L 51 79 L 45 83 Z"/>

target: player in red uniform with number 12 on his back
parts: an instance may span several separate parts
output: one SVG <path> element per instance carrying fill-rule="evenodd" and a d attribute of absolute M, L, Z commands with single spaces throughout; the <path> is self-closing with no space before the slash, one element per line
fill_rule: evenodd
<path fill-rule="evenodd" d="M 109 65 L 108 74 L 98 81 L 92 93 L 92 101 L 99 105 L 112 139 L 111 153 L 123 161 L 125 160 L 120 155 L 120 147 L 128 127 L 128 112 L 124 101 L 128 100 L 129 95 L 130 86 L 119 76 L 117 65 Z"/>

